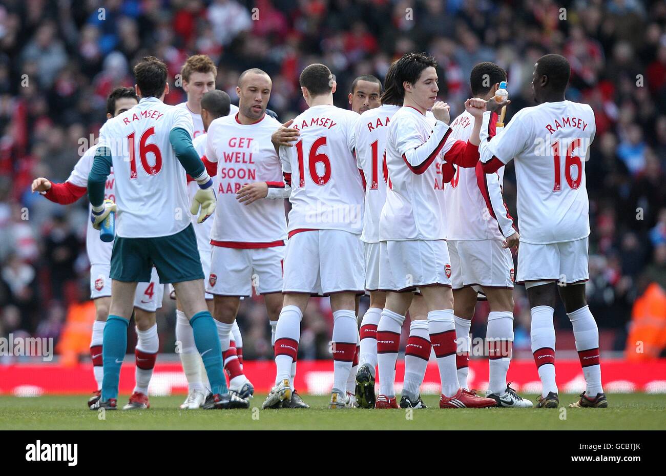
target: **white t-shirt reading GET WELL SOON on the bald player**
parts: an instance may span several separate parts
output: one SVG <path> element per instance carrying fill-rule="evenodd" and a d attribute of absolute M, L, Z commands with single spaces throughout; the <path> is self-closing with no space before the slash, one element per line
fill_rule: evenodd
<path fill-rule="evenodd" d="M 278 127 L 280 122 L 269 115 L 254 124 L 240 124 L 236 115 L 220 117 L 208 126 L 206 158 L 217 162 L 211 244 L 235 242 L 234 247 L 242 247 L 242 243 L 268 244 L 286 238 L 282 200 L 249 205 L 236 200 L 236 192 L 245 184 L 282 181 L 280 159 L 270 142 Z"/>

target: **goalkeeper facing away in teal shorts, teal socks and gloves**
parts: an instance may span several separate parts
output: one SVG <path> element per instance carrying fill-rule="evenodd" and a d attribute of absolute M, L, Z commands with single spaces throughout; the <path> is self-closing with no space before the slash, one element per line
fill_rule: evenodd
<path fill-rule="evenodd" d="M 204 274 L 187 214 L 186 173 L 200 186 L 190 207 L 193 214 L 199 213 L 198 221 L 215 208 L 212 179 L 192 146 L 192 119 L 181 108 L 163 103 L 168 94 L 165 63 L 145 57 L 134 74 L 139 105 L 101 128 L 88 178 L 93 226 L 99 228 L 111 211 L 118 213 L 111 254 L 111 308 L 104 330 L 102 396 L 93 407 L 116 406 L 131 298 L 137 282 L 149 280 L 154 264 L 160 281 L 174 284 L 190 318 L 212 390 L 204 408 L 247 408 L 247 400 L 226 388 L 220 341 L 206 308 Z M 104 200 L 112 166 L 117 205 Z"/>

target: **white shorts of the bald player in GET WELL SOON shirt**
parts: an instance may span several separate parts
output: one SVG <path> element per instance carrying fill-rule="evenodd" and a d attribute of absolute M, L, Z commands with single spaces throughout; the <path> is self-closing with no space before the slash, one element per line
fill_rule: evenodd
<path fill-rule="evenodd" d="M 212 246 L 206 292 L 217 296 L 252 296 L 282 291 L 284 246 L 224 248 Z"/>

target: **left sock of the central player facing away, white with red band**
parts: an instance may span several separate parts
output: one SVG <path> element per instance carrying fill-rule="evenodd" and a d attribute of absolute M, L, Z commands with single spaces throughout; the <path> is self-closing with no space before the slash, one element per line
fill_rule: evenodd
<path fill-rule="evenodd" d="M 298 306 L 284 306 L 280 311 L 280 318 L 278 318 L 278 324 L 275 326 L 275 344 L 273 346 L 277 367 L 276 385 L 283 379 L 291 382 L 292 367 L 298 354 L 300 321 L 302 318 L 303 314 Z"/>

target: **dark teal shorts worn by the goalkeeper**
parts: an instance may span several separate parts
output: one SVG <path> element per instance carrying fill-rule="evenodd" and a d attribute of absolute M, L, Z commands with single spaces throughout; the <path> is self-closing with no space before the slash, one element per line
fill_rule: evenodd
<path fill-rule="evenodd" d="M 151 282 L 153 266 L 163 284 L 204 278 L 191 223 L 181 232 L 158 238 L 116 236 L 111 252 L 112 280 Z"/>

